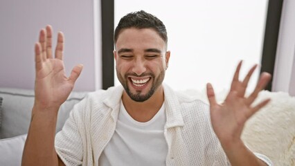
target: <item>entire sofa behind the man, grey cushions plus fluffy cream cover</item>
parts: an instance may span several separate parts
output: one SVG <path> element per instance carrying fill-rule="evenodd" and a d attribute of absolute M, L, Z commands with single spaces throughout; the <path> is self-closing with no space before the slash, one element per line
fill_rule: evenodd
<path fill-rule="evenodd" d="M 208 103 L 205 91 L 189 90 L 199 100 Z M 87 92 L 72 92 L 62 104 L 57 118 L 60 131 L 74 104 Z M 227 91 L 217 93 L 223 101 Z M 283 92 L 260 92 L 256 103 L 271 98 L 271 102 L 247 122 L 242 140 L 249 149 L 268 156 L 274 165 L 295 166 L 295 97 Z M 21 165 L 26 133 L 34 102 L 33 90 L 0 88 L 0 165 Z"/>

